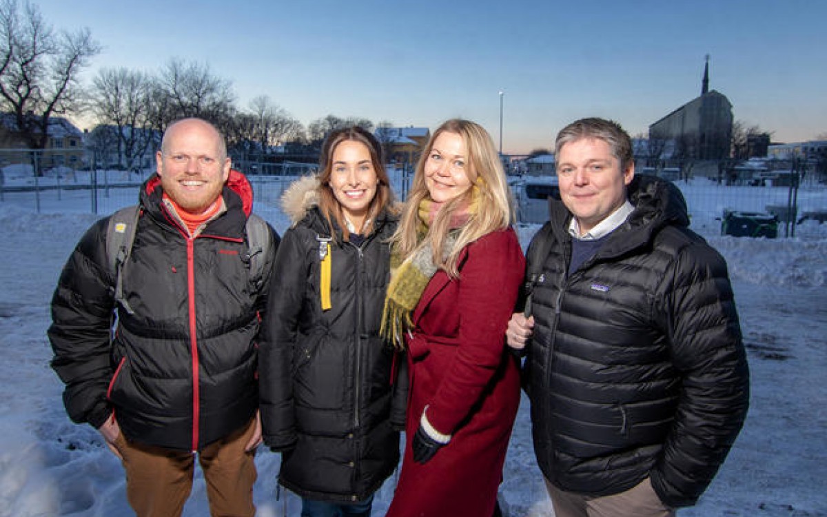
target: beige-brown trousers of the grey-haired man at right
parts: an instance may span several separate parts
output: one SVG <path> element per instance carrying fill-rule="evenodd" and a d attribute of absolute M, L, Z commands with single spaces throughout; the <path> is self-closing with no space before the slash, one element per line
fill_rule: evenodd
<path fill-rule="evenodd" d="M 619 494 L 594 497 L 562 491 L 546 480 L 555 517 L 675 517 L 664 505 L 647 477 L 637 486 Z"/>

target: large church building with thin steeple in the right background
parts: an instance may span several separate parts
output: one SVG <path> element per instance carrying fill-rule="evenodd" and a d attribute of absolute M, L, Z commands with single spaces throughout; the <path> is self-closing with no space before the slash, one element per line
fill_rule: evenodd
<path fill-rule="evenodd" d="M 649 141 L 661 142 L 672 159 L 720 160 L 732 145 L 732 103 L 710 90 L 710 56 L 706 56 L 700 97 L 649 126 Z"/>

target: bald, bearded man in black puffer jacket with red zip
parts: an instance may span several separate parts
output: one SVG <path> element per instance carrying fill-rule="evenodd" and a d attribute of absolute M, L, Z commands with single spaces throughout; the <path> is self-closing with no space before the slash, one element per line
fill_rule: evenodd
<path fill-rule="evenodd" d="M 171 124 L 156 161 L 141 187 L 122 296 L 108 218 L 69 257 L 52 299 L 51 365 L 69 417 L 97 428 L 122 459 L 137 515 L 180 515 L 194 452 L 213 515 L 254 515 L 256 339 L 278 236 L 265 225 L 274 238 L 256 247 L 266 249 L 248 247 L 251 185 L 208 122 Z M 251 273 L 256 252 L 261 278 Z"/>

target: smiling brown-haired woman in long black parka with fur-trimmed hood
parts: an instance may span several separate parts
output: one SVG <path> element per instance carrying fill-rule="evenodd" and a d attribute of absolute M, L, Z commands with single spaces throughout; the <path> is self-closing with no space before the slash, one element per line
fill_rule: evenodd
<path fill-rule="evenodd" d="M 303 517 L 370 515 L 399 462 L 405 360 L 379 336 L 392 204 L 380 145 L 361 127 L 332 132 L 318 178 L 282 198 L 293 226 L 276 256 L 259 351 L 261 419 Z"/>

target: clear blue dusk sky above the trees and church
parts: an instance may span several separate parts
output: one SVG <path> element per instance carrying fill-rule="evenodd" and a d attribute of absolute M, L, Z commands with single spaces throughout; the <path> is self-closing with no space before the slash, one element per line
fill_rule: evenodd
<path fill-rule="evenodd" d="M 316 118 L 437 127 L 465 117 L 503 151 L 551 147 L 580 117 L 633 136 L 710 89 L 736 120 L 800 141 L 827 133 L 827 2 L 39 0 L 56 28 L 103 45 L 86 74 L 155 73 L 170 58 L 232 80 L 239 107 L 268 95 Z M 82 124 L 83 125 L 83 124 Z"/>

